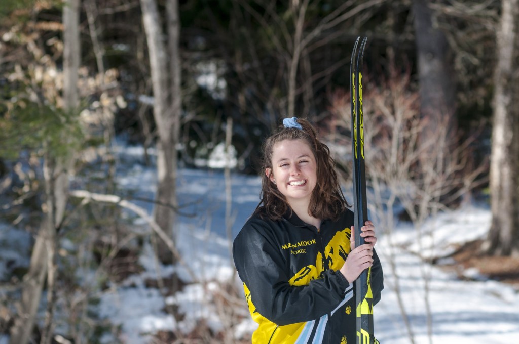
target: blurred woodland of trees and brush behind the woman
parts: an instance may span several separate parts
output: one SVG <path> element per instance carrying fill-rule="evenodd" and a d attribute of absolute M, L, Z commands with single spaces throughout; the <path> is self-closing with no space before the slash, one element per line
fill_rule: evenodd
<path fill-rule="evenodd" d="M 474 254 L 519 253 L 517 0 L 5 0 L 0 19 L 2 221 L 33 238 L 30 264 L 2 277 L 0 330 L 12 343 L 56 341 L 59 295 L 81 289 L 63 279 L 70 257 L 90 256 L 115 283 L 138 269 L 117 265 L 121 255 L 146 240 L 162 264 L 182 264 L 179 168 L 256 174 L 281 118 L 316 123 L 346 185 L 358 36 L 368 37 L 366 166 L 381 229 L 420 228 L 477 199 L 492 221 Z M 152 214 L 118 188 L 116 140 L 142 146 L 157 169 Z M 152 234 L 127 236 L 121 209 Z M 72 228 L 83 233 L 73 248 L 63 245 Z M 174 293 L 183 281 L 156 283 Z M 98 338 L 74 321 L 74 342 Z"/>

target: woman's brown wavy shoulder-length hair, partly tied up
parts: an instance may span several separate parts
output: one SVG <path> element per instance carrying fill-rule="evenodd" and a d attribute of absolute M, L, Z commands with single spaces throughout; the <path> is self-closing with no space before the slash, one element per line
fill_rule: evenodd
<path fill-rule="evenodd" d="M 267 176 L 265 170 L 272 169 L 274 145 L 283 140 L 303 140 L 310 147 L 317 163 L 317 184 L 310 197 L 308 213 L 318 219 L 337 219 L 346 207 L 349 207 L 338 182 L 335 161 L 330 155 L 330 148 L 323 144 L 317 130 L 305 119 L 297 119 L 303 130 L 286 128 L 283 125 L 263 143 L 262 151 L 262 190 L 260 204 L 255 213 L 272 220 L 281 219 L 284 213 L 292 211 L 285 196 Z M 271 174 L 271 173 L 270 173 Z"/>

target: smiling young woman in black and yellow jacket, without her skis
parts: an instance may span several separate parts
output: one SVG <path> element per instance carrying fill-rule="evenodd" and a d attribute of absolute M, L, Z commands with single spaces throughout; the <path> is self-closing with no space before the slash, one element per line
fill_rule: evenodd
<path fill-rule="evenodd" d="M 261 202 L 233 245 L 253 343 L 355 343 L 353 282 L 367 267 L 380 299 L 375 227 L 353 228 L 334 165 L 306 120 L 285 119 L 265 141 Z M 367 243 L 355 248 L 354 235 Z"/>

